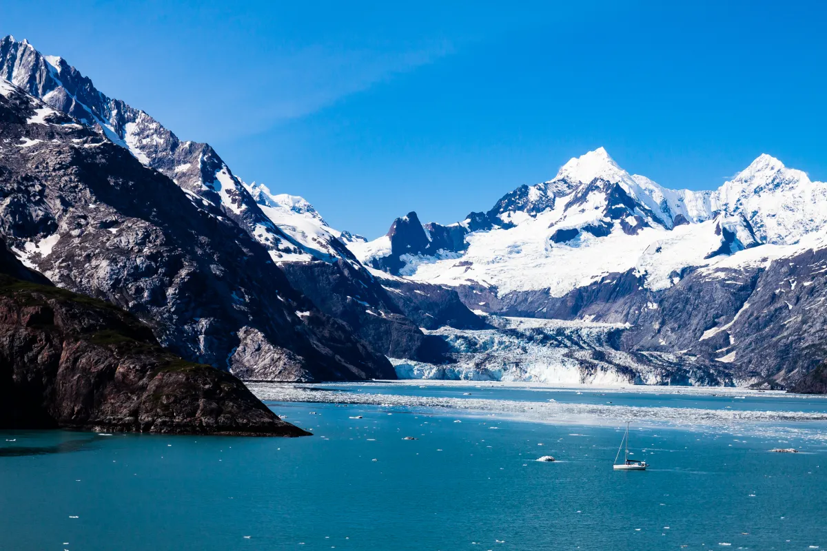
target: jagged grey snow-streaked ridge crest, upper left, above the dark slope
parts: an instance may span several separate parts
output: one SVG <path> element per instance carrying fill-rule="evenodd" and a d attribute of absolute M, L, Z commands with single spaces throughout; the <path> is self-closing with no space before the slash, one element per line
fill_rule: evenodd
<path fill-rule="evenodd" d="M 108 97 L 58 56 L 41 55 L 27 40 L 0 39 L 0 78 L 74 117 L 141 164 L 164 173 L 199 208 L 227 216 L 264 245 L 274 260 L 307 256 L 256 205 L 246 188 L 208 144 L 181 141 L 149 114 Z"/>

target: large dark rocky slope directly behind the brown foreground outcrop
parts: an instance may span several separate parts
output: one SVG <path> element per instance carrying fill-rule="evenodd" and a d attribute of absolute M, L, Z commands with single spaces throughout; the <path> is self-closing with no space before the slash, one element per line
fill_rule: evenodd
<path fill-rule="evenodd" d="M 189 361 L 268 380 L 393 376 L 235 222 L 93 129 L 3 87 L 0 231 L 31 268 L 131 311 Z"/>

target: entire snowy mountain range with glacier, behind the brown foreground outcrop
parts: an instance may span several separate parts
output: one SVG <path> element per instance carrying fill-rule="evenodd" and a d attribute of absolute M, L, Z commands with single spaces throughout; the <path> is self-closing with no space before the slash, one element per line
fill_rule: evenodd
<path fill-rule="evenodd" d="M 825 359 L 827 184 L 767 154 L 711 191 L 599 148 L 377 240 L 232 173 L 64 59 L 0 40 L 0 232 L 52 283 L 246 379 L 788 387 Z"/>

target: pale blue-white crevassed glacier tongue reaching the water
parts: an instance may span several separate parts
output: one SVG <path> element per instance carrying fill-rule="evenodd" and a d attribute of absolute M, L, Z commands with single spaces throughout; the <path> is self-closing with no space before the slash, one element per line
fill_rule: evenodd
<path fill-rule="evenodd" d="M 389 358 L 397 377 L 548 384 L 732 386 L 723 369 L 691 354 L 619 349 L 629 324 L 486 316 L 490 329 L 424 330 L 451 349 L 452 363 Z"/>

